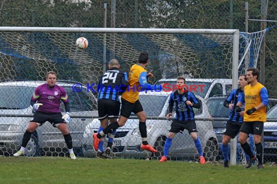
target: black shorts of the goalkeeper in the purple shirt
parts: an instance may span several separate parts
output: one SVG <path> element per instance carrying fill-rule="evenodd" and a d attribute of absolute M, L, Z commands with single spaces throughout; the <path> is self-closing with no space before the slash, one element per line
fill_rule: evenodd
<path fill-rule="evenodd" d="M 53 127 L 57 127 L 56 124 L 66 123 L 62 117 L 62 113 L 60 112 L 48 114 L 41 111 L 36 111 L 34 114 L 34 119 L 30 122 L 39 123 L 40 126 L 45 122 L 50 122 Z"/>

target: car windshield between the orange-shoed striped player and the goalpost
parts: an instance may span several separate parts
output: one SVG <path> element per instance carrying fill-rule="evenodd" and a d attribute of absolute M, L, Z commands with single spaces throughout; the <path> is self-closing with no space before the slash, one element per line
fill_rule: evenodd
<path fill-rule="evenodd" d="M 225 98 L 209 98 L 207 106 L 212 118 L 227 118 L 229 117 L 230 110 L 223 106 Z"/>

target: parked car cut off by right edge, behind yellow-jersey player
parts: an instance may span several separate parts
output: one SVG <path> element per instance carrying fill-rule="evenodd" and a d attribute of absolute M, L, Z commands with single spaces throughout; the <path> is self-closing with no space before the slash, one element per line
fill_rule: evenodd
<path fill-rule="evenodd" d="M 272 120 L 275 119 L 275 120 Z M 264 123 L 263 156 L 265 161 L 277 161 L 277 105 L 267 112 L 267 120 L 274 122 Z"/>

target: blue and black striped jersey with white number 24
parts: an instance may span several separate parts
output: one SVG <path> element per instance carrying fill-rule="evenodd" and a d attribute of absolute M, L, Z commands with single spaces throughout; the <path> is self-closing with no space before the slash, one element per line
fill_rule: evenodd
<path fill-rule="evenodd" d="M 119 101 L 119 95 L 128 85 L 127 73 L 113 67 L 104 72 L 100 77 L 97 92 L 99 99 L 110 99 Z"/>

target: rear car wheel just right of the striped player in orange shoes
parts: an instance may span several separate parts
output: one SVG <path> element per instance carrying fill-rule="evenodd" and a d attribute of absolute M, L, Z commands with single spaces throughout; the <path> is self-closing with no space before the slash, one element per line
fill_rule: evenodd
<path fill-rule="evenodd" d="M 210 138 L 204 148 L 204 157 L 208 162 L 216 161 L 218 155 L 218 144 L 215 138 Z"/>

